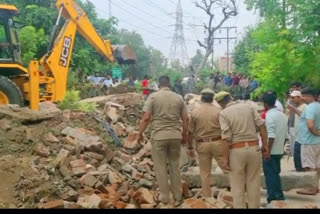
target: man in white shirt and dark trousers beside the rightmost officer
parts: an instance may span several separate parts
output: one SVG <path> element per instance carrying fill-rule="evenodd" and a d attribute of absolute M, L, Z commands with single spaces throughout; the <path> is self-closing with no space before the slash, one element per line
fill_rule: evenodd
<path fill-rule="evenodd" d="M 262 97 L 264 107 L 268 110 L 265 123 L 268 133 L 269 154 L 263 160 L 268 203 L 273 200 L 284 200 L 280 172 L 284 145 L 288 140 L 288 119 L 283 112 L 276 108 L 276 99 L 277 97 L 272 93 L 266 93 Z"/>

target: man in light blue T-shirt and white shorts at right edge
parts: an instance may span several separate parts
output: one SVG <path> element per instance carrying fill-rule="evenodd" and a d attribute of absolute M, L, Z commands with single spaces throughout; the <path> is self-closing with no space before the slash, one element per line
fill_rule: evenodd
<path fill-rule="evenodd" d="M 302 112 L 298 124 L 297 141 L 301 144 L 301 162 L 305 171 L 320 168 L 320 104 L 316 101 L 316 91 L 305 88 L 301 92 L 307 107 Z M 317 185 L 318 186 L 318 185 Z M 317 188 L 298 191 L 300 194 L 316 195 Z"/>

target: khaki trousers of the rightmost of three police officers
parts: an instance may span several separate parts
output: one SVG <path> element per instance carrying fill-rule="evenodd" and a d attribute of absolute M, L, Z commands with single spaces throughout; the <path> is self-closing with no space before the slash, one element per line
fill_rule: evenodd
<path fill-rule="evenodd" d="M 230 183 L 234 208 L 260 208 L 261 151 L 258 146 L 246 146 L 230 151 Z"/>

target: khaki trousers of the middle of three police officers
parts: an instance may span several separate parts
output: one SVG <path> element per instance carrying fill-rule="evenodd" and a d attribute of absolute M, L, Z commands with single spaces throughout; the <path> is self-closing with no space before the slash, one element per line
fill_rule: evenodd
<path fill-rule="evenodd" d="M 211 170 L 212 170 L 212 159 L 214 158 L 219 167 L 225 174 L 228 174 L 228 171 L 225 170 L 225 163 L 223 162 L 223 153 L 224 150 L 223 141 L 215 141 L 208 143 L 198 143 L 197 152 L 199 158 L 200 166 L 200 177 L 202 185 L 202 194 L 206 198 L 212 197 L 211 192 Z"/>

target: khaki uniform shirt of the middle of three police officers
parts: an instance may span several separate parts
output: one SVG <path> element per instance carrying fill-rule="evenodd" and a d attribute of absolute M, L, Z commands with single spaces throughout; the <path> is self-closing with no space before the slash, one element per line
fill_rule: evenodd
<path fill-rule="evenodd" d="M 220 109 L 209 103 L 201 103 L 191 112 L 189 131 L 196 141 L 201 138 L 221 136 L 219 124 Z"/>

